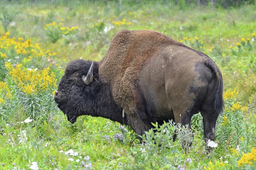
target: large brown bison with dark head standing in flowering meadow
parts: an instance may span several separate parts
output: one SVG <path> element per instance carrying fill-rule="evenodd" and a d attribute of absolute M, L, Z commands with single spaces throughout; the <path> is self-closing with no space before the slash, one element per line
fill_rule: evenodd
<path fill-rule="evenodd" d="M 201 112 L 205 141 L 223 111 L 221 71 L 206 54 L 156 31 L 119 31 L 100 62 L 70 62 L 55 102 L 68 121 L 101 116 L 143 135 L 151 122 L 189 124 Z M 125 111 L 125 114 L 122 114 Z"/>

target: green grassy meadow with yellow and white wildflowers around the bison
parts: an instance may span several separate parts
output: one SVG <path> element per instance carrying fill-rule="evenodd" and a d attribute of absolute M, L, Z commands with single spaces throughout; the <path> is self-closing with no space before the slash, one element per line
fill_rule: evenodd
<path fill-rule="evenodd" d="M 133 3 L 137 4 L 137 10 Z M 58 1 L 57 4 L 58 10 L 53 7 L 49 10 L 44 3 L 41 10 L 33 7 L 0 11 L 0 163 L 3 164 L 0 169 L 29 169 L 32 162 L 39 169 L 47 170 L 255 167 L 254 3 L 230 6 L 228 10 L 172 9 L 168 1 L 143 1 L 143 10 L 138 9 L 141 5 L 138 1 L 130 1 L 127 10 L 95 10 L 94 6 L 86 6 L 86 1 Z M 195 40 L 192 37 L 186 45 L 209 55 L 223 74 L 226 107 L 216 125 L 217 148 L 207 152 L 200 115 L 192 118 L 195 137 L 192 146 L 184 150 L 181 139 L 190 139 L 191 136 L 186 136 L 190 133 L 173 142 L 169 138 L 179 127 L 169 123 L 156 126 L 158 133 L 146 133 L 145 144 L 141 145 L 128 126 L 125 133 L 119 123 L 91 116 L 80 116 L 72 125 L 59 111 L 53 93 L 67 62 L 80 57 L 100 61 L 109 46 L 105 38 L 122 29 L 151 29 L 170 37 L 183 37 L 183 43 L 186 36 L 204 35 L 202 43 L 200 39 L 191 43 Z M 11 38 L 17 40 L 22 35 L 34 37 L 31 43 L 23 36 L 22 43 L 8 45 Z M 44 41 L 36 45 L 38 35 Z M 52 37 L 56 35 L 58 43 L 53 43 Z M 209 35 L 214 37 L 211 43 L 205 39 Z M 28 117 L 32 122 L 24 122 Z M 169 136 L 163 133 L 166 130 Z M 65 154 L 71 149 L 78 155 Z M 90 159 L 84 159 L 86 156 Z"/>

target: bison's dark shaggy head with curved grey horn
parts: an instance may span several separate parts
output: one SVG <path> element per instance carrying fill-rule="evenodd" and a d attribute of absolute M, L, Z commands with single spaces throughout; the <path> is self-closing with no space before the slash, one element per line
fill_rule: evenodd
<path fill-rule="evenodd" d="M 54 99 L 71 123 L 93 108 L 93 98 L 99 89 L 98 78 L 97 63 L 80 59 L 67 65 Z"/>

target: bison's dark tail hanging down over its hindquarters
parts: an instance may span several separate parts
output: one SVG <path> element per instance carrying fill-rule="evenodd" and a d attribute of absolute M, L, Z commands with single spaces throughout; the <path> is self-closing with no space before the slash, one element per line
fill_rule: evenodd
<path fill-rule="evenodd" d="M 223 102 L 223 80 L 222 80 L 222 75 L 221 71 L 219 70 L 218 66 L 210 59 L 204 59 L 204 64 L 212 69 L 214 74 L 216 75 L 218 79 L 218 91 L 215 94 L 215 101 L 214 101 L 214 109 L 218 113 L 223 112 L 224 108 L 224 102 Z"/>

